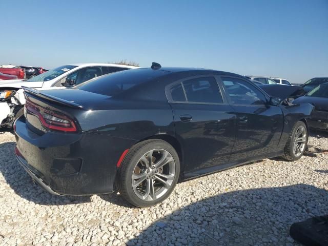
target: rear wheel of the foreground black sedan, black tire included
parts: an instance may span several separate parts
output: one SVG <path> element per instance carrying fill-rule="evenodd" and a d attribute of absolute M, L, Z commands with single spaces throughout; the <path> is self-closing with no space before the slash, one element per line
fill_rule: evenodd
<path fill-rule="evenodd" d="M 117 177 L 119 193 L 139 208 L 165 200 L 180 174 L 179 157 L 168 142 L 150 139 L 135 145 L 122 162 Z"/>

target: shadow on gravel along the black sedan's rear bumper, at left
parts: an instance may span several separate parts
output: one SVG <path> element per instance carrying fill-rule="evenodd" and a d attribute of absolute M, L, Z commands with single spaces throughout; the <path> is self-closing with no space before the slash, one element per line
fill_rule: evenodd
<path fill-rule="evenodd" d="M 55 196 L 35 185 L 14 155 L 15 142 L 0 144 L 0 172 L 6 183 L 20 197 L 43 205 L 64 205 L 90 202 L 90 196 Z M 1 186 L 6 186 L 4 183 Z M 3 188 L 3 187 L 2 187 Z M 10 189 L 5 188 L 5 189 Z"/>

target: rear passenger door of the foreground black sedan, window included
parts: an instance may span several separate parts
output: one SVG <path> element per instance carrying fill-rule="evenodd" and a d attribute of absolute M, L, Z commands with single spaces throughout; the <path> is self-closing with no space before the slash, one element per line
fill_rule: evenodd
<path fill-rule="evenodd" d="M 221 90 L 215 75 L 185 78 L 166 88 L 187 178 L 229 161 L 236 115 Z"/>

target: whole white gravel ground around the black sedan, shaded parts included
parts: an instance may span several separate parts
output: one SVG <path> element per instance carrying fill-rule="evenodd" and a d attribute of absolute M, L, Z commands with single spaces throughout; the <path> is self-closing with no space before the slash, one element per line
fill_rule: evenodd
<path fill-rule="evenodd" d="M 293 222 L 328 211 L 327 154 L 266 159 L 179 183 L 163 203 L 137 209 L 119 194 L 52 196 L 0 134 L 0 245 L 299 245 Z M 310 145 L 328 149 L 328 134 Z"/>

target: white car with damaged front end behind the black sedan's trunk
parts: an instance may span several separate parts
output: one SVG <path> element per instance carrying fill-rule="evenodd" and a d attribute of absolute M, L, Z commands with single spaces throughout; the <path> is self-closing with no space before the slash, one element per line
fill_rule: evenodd
<path fill-rule="evenodd" d="M 4 112 L 8 112 L 7 106 L 9 106 L 10 113 L 5 118 L 0 117 L 0 127 L 11 127 L 14 120 L 23 114 L 25 97 L 22 86 L 37 88 L 38 90 L 67 89 L 74 85 L 84 83 L 94 77 L 136 68 L 138 67 L 117 64 L 72 64 L 60 66 L 30 79 L 2 81 L 0 82 L 0 93 L 3 91 L 11 91 L 12 93 L 1 94 L 3 97 L 0 97 L 0 110 L 3 108 Z M 19 69 L 24 70 L 21 68 Z M 6 105 L 1 106 L 1 104 Z"/>

